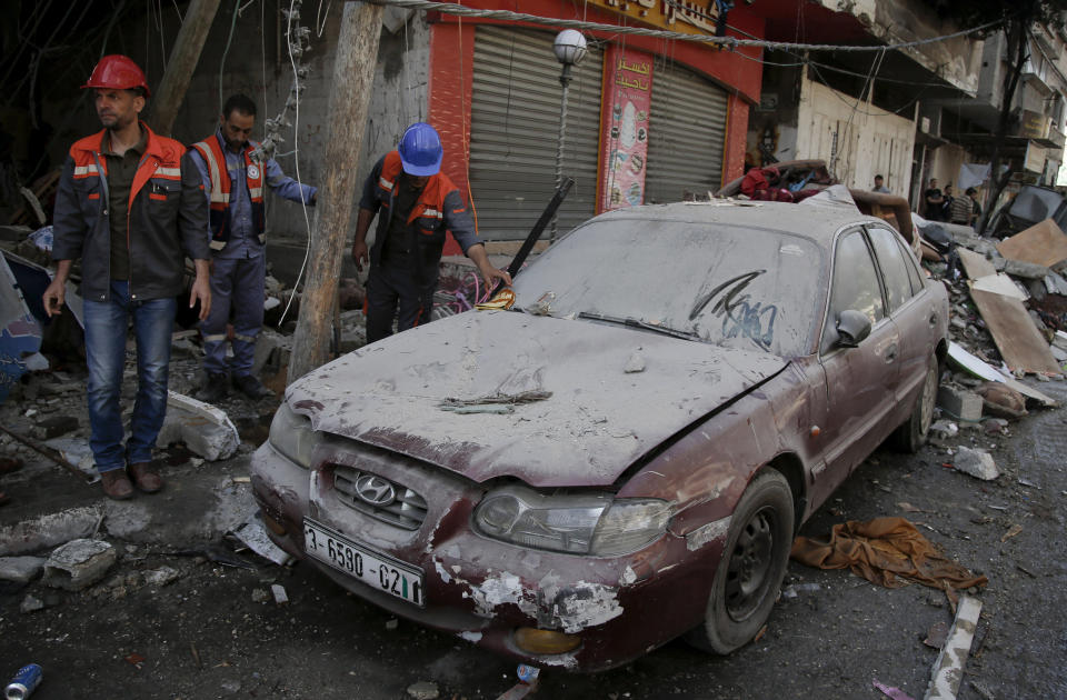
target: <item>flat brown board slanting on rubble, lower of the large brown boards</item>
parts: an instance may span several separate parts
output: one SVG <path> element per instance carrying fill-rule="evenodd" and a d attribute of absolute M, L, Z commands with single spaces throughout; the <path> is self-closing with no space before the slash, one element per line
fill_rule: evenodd
<path fill-rule="evenodd" d="M 1034 326 L 1021 301 L 978 289 L 970 290 L 970 298 L 978 307 L 1008 369 L 1048 374 L 1060 372 L 1048 343 Z"/>

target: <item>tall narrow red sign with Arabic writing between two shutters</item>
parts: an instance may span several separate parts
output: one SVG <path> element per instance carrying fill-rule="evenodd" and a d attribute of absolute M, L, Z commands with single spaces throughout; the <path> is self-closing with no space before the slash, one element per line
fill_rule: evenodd
<path fill-rule="evenodd" d="M 652 57 L 608 47 L 600 112 L 600 182 L 597 211 L 645 201 L 648 116 L 652 106 Z"/>

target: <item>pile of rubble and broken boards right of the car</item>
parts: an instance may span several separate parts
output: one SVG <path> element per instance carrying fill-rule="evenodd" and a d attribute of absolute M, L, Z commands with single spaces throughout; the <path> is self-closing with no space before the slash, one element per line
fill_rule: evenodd
<path fill-rule="evenodd" d="M 1026 250 L 1019 254 L 1018 246 L 1018 240 L 1033 238 L 1029 229 L 997 241 L 977 236 L 970 227 L 918 219 L 916 223 L 924 237 L 923 264 L 950 297 L 953 343 L 930 441 L 947 453 L 946 466 L 994 480 L 1000 472 L 981 446 L 995 447 L 990 441 L 1008 434 L 1010 421 L 1024 419 L 1029 410 L 1054 407 L 1039 383 L 1065 379 L 1067 252 L 1059 259 L 1046 254 L 1046 264 L 1040 264 L 1019 259 L 1030 257 Z M 1039 226 L 1045 238 L 1063 237 L 1067 251 L 1067 236 L 1051 220 Z M 947 240 L 936 246 L 926 240 L 927 233 L 947 234 Z M 1049 246 L 1043 240 L 1038 248 L 1047 252 Z M 1024 378 L 1037 380 L 1038 387 Z"/>

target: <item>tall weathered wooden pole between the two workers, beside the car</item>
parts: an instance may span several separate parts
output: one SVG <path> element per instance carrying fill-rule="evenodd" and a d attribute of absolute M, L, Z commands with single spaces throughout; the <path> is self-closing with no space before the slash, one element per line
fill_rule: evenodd
<path fill-rule="evenodd" d="M 359 162 L 363 144 L 382 11 L 380 4 L 345 3 L 330 83 L 326 170 L 317 198 L 308 277 L 300 296 L 300 316 L 289 360 L 289 383 L 329 359 L 333 299 L 359 182 L 353 164 Z"/>

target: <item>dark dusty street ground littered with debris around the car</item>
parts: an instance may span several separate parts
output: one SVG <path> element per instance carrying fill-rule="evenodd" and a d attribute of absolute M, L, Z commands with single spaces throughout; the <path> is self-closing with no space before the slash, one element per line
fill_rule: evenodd
<path fill-rule="evenodd" d="M 191 371 L 186 374 L 176 378 L 179 386 L 193 381 Z M 1040 389 L 1067 400 L 1067 382 Z M 0 409 L 6 427 L 26 428 L 26 404 Z M 252 437 L 247 449 L 262 436 L 255 429 L 269 409 L 230 404 Z M 956 440 L 991 450 L 1004 472 L 996 481 L 946 469 L 944 448 L 910 457 L 879 451 L 802 530 L 819 536 L 846 519 L 906 516 L 989 577 L 978 594 L 984 608 L 959 693 L 965 700 L 1067 697 L 1067 410 L 1036 410 L 1010 430 L 1007 437 L 968 430 Z M 248 506 L 248 486 L 231 479 L 247 468 L 247 453 L 171 466 L 163 493 L 118 507 L 104 502 L 99 487 L 80 484 L 43 460 L 30 459 L 4 477 L 13 502 L 0 509 L 0 524 L 99 507 L 100 536 L 121 557 L 102 583 L 82 592 L 39 581 L 0 588 L 0 672 L 40 663 L 46 680 L 34 700 L 399 699 L 419 681 L 436 683 L 441 698 L 473 700 L 496 698 L 515 683 L 512 663 L 395 621 L 310 566 L 286 570 L 257 560 L 248 570 L 203 556 L 205 544 L 220 542 Z M 1014 526 L 1021 530 L 1007 537 Z M 179 572 L 177 580 L 146 584 L 144 573 L 164 566 Z M 271 583 L 282 584 L 290 602 L 276 604 Z M 943 593 L 919 586 L 887 590 L 796 562 L 790 586 L 797 594 L 781 598 L 766 636 L 731 657 L 708 657 L 676 641 L 611 672 L 547 672 L 537 697 L 881 698 L 874 679 L 923 697 L 937 656 L 923 639 L 953 619 Z M 48 607 L 20 612 L 28 594 Z"/>

